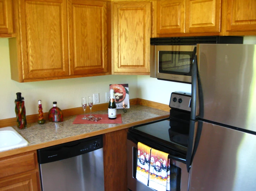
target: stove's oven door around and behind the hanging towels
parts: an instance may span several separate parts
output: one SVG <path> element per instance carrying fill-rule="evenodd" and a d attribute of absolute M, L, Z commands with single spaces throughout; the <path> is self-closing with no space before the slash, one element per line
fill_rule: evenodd
<path fill-rule="evenodd" d="M 131 191 L 155 191 L 136 179 L 137 144 L 127 139 L 127 178 L 128 189 Z M 170 158 L 171 159 L 171 158 Z M 171 159 L 170 162 L 170 190 L 187 191 L 188 172 L 186 164 Z"/>

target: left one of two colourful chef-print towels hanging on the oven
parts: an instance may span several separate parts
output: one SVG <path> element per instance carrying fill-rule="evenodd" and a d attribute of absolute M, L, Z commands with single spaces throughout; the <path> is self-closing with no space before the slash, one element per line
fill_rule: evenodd
<path fill-rule="evenodd" d="M 136 179 L 148 185 L 150 147 L 138 142 Z"/>

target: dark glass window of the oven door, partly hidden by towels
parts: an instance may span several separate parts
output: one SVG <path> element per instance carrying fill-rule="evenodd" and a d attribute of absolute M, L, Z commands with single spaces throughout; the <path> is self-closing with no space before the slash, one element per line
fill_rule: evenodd
<path fill-rule="evenodd" d="M 137 169 L 137 153 L 138 149 L 133 147 L 133 178 L 136 178 Z M 167 174 L 169 175 L 170 181 L 167 183 L 167 190 L 169 191 L 180 191 L 181 183 L 181 168 L 175 166 L 175 161 L 170 160 L 170 168 L 167 169 Z"/>

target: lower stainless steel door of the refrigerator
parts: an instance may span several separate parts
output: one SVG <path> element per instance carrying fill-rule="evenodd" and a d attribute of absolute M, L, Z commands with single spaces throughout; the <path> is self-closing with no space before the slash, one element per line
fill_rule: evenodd
<path fill-rule="evenodd" d="M 256 135 L 202 123 L 189 191 L 256 190 Z"/>

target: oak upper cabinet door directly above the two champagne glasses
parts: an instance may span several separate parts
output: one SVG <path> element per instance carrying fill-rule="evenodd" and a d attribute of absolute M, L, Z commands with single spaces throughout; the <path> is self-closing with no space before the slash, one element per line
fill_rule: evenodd
<path fill-rule="evenodd" d="M 107 4 L 72 0 L 69 5 L 70 73 L 107 72 Z"/>

